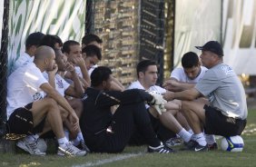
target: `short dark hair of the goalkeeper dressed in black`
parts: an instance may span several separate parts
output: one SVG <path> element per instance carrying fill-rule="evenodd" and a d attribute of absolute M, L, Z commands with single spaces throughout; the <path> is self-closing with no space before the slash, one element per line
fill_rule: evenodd
<path fill-rule="evenodd" d="M 103 81 L 107 81 L 112 74 L 112 71 L 109 67 L 106 66 L 98 66 L 94 69 L 93 73 L 91 74 L 91 84 L 92 86 L 98 86 Z"/>

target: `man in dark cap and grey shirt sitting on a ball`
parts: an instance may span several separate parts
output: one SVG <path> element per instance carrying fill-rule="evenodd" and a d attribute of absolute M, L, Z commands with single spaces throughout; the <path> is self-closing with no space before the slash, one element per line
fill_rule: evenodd
<path fill-rule="evenodd" d="M 199 152 L 208 150 L 203 130 L 206 134 L 240 135 L 248 113 L 241 81 L 229 65 L 223 64 L 221 44 L 210 41 L 196 48 L 202 50 L 202 65 L 209 70 L 195 87 L 182 92 L 165 93 L 164 96 L 169 100 L 182 100 L 182 113 L 195 135 L 187 147 Z M 209 103 L 197 99 L 202 95 L 208 97 Z"/>

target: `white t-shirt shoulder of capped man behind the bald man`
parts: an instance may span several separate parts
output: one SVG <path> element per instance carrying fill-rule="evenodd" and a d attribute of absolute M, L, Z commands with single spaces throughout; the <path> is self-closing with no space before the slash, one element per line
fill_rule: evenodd
<path fill-rule="evenodd" d="M 26 64 L 31 64 L 34 61 L 34 56 L 30 56 L 29 54 L 23 53 L 19 56 L 19 58 L 15 61 L 11 68 L 11 73 L 15 72 L 15 70 L 21 66 L 25 66 Z"/>

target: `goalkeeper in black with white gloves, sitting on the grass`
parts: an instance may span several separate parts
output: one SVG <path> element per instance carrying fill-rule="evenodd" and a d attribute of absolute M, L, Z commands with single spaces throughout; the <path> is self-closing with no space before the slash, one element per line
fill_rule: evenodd
<path fill-rule="evenodd" d="M 133 133 L 134 124 L 143 133 L 148 152 L 173 152 L 162 145 L 155 133 L 146 112 L 144 102 L 159 107 L 164 102 L 159 94 L 146 93 L 134 89 L 109 91 L 112 72 L 108 67 L 99 66 L 91 75 L 92 87 L 88 87 L 84 96 L 84 112 L 80 126 L 87 146 L 92 152 L 123 152 Z M 111 106 L 120 104 L 115 113 Z M 160 111 L 161 112 L 161 111 Z"/>

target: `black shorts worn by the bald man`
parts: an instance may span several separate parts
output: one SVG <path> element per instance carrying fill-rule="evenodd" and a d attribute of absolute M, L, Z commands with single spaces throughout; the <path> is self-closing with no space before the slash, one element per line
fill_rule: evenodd
<path fill-rule="evenodd" d="M 28 103 L 25 107 L 15 109 L 8 120 L 9 133 L 35 134 L 41 133 L 44 129 L 45 118 L 34 127 L 33 114 L 29 111 L 33 103 Z"/>

